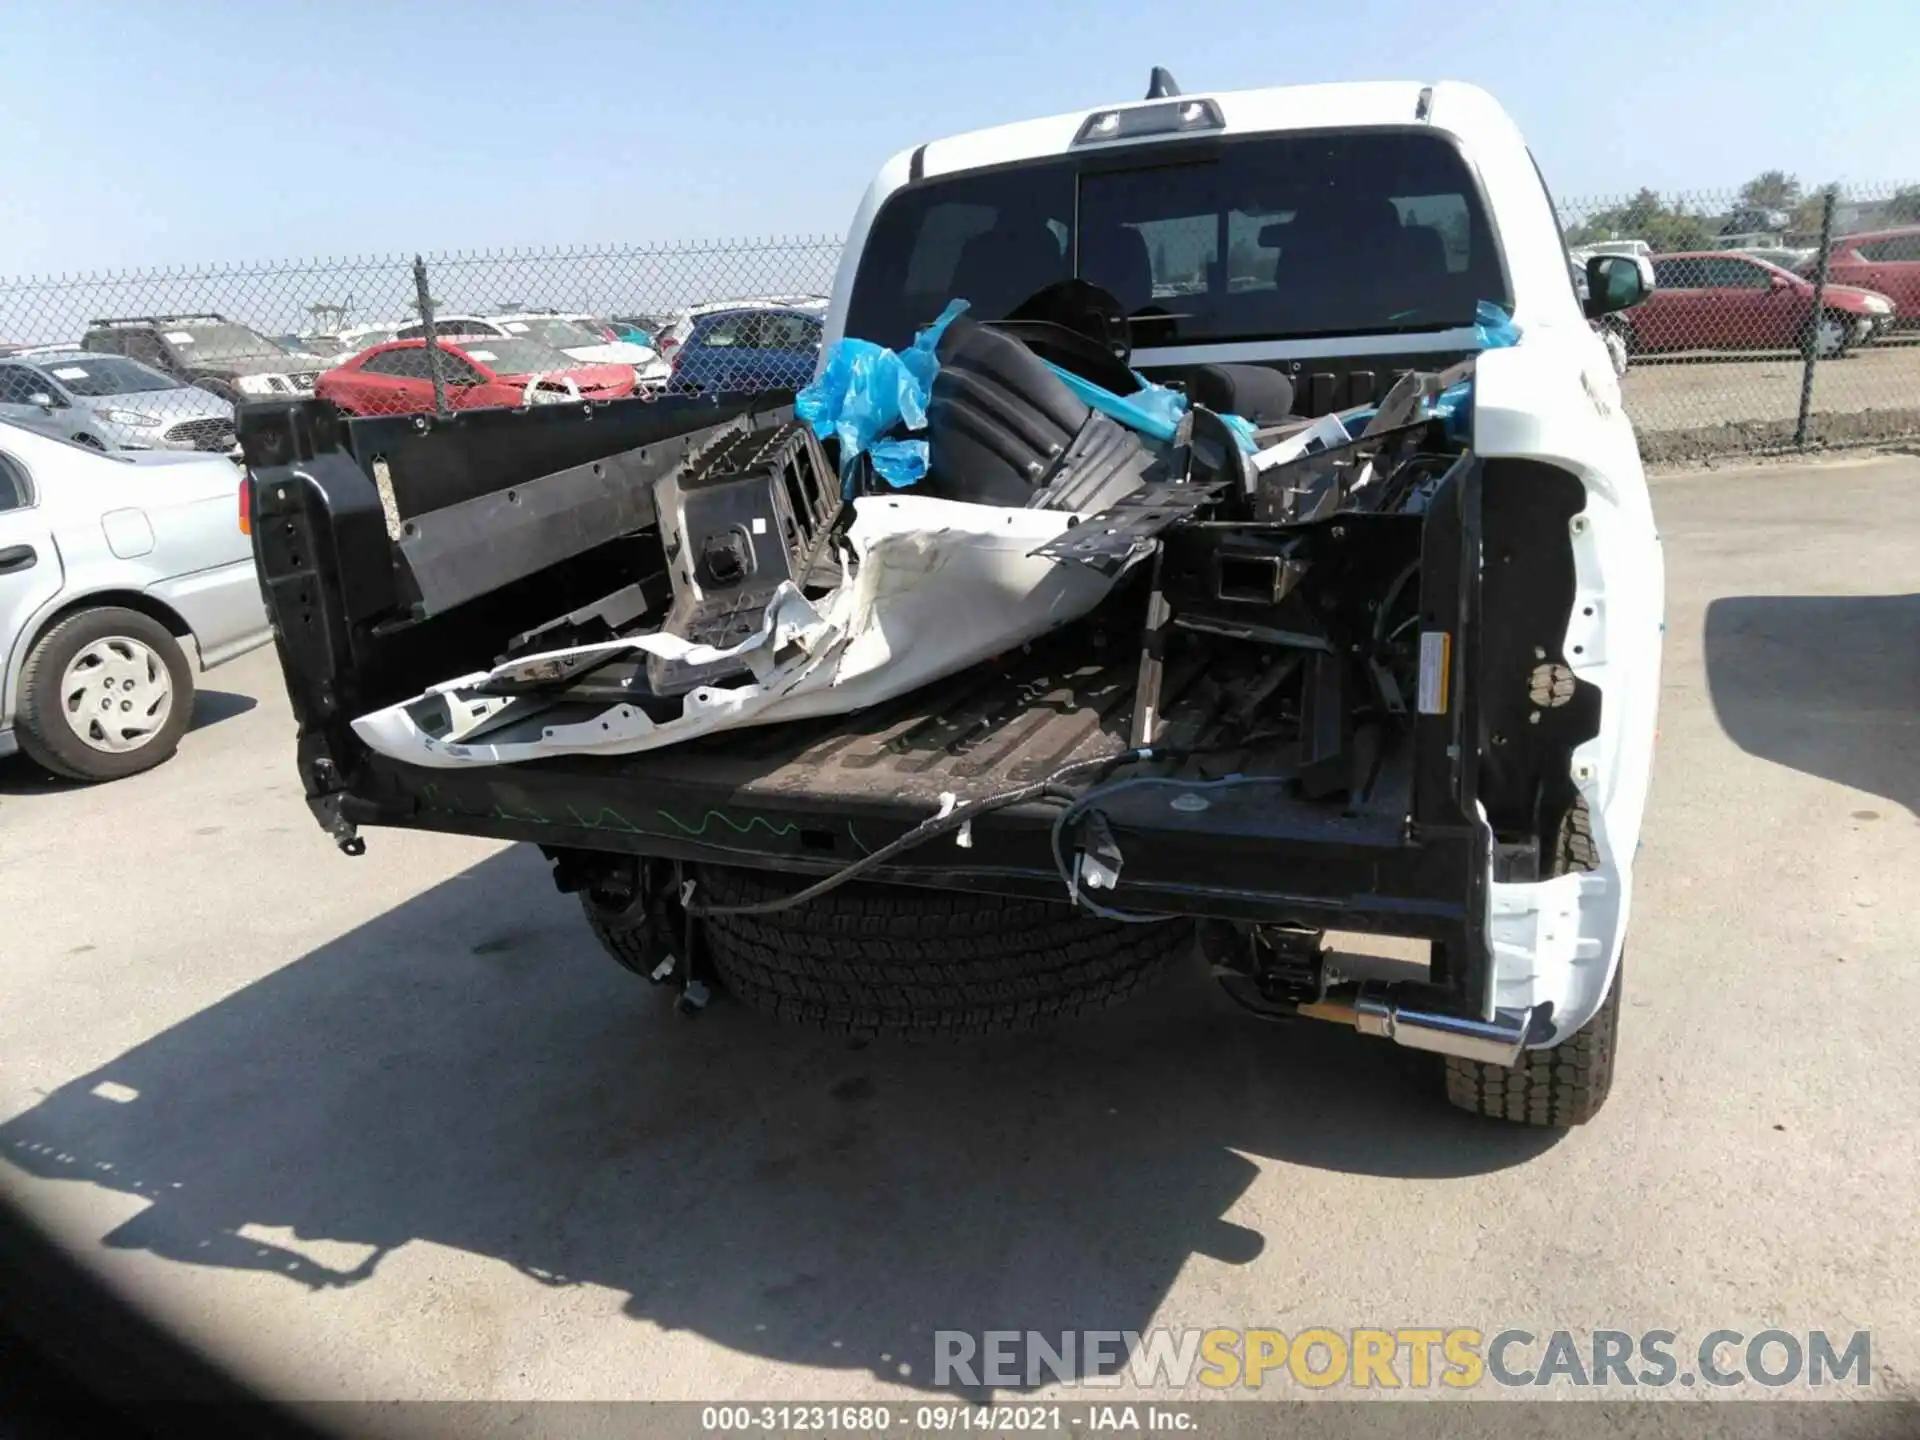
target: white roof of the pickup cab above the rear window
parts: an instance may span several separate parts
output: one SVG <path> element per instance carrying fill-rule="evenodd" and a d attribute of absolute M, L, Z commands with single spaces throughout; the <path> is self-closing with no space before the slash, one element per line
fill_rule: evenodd
<path fill-rule="evenodd" d="M 899 159 L 906 159 L 918 177 L 1060 156 L 1075 148 L 1073 138 L 1091 115 L 1148 109 L 1175 102 L 1212 102 L 1217 106 L 1225 123 L 1210 129 L 1212 134 L 1271 134 L 1275 131 L 1384 125 L 1434 125 L 1465 138 L 1484 134 L 1488 129 L 1513 131 L 1513 121 L 1507 119 L 1500 102 L 1478 84 L 1461 81 L 1350 81 L 1340 84 L 1281 84 L 1260 90 L 1196 90 L 1181 94 L 1173 102 L 1116 102 L 929 140 L 918 150 L 902 150 Z M 1119 150 L 1167 138 L 1173 136 L 1102 140 L 1081 148 Z"/>

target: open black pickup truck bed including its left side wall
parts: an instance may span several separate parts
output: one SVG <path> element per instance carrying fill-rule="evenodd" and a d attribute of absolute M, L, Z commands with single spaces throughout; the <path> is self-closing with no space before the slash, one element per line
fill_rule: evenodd
<path fill-rule="evenodd" d="M 1144 572 L 1137 597 L 1116 593 L 1044 639 L 831 718 L 733 728 L 628 755 L 455 768 L 390 758 L 355 735 L 355 716 L 436 680 L 486 670 L 509 637 L 632 586 L 634 538 L 653 522 L 651 501 L 641 503 L 651 480 L 680 463 L 682 442 L 755 405 L 766 401 L 348 422 L 311 401 L 242 413 L 255 555 L 300 722 L 301 781 L 315 818 L 344 851 L 365 851 L 363 829 L 397 826 L 530 841 L 563 864 L 568 854 L 628 854 L 824 876 L 956 803 L 1129 751 L 1146 668 Z M 1555 549 L 1534 536 L 1565 538 L 1569 501 L 1540 474 L 1480 470 L 1463 465 L 1425 518 L 1346 511 L 1313 522 L 1315 543 L 1346 557 L 1325 561 L 1334 566 L 1329 574 L 1363 595 L 1384 589 L 1369 572 L 1382 564 L 1380 553 L 1396 553 L 1394 568 L 1407 553 L 1425 557 L 1423 609 L 1428 624 L 1459 637 L 1455 678 L 1478 666 L 1524 676 L 1517 657 L 1549 639 L 1553 624 L 1553 605 L 1530 597 L 1551 591 L 1563 616 L 1559 591 L 1571 593 L 1563 540 Z M 1517 588 L 1511 601 L 1500 599 L 1498 653 L 1478 639 L 1482 580 L 1473 559 L 1486 484 L 1498 486 L 1501 505 L 1488 511 L 1494 532 L 1484 543 L 1540 557 L 1534 570 L 1501 566 L 1490 582 Z M 1260 561 L 1263 534 L 1258 522 L 1221 526 L 1219 536 L 1194 532 L 1187 564 L 1215 545 Z M 1167 549 L 1169 582 L 1179 553 Z M 1488 810 L 1498 814 L 1505 801 L 1484 787 L 1503 774 L 1476 770 L 1467 756 L 1488 726 L 1559 745 L 1567 724 L 1559 716 L 1580 720 L 1582 707 L 1549 714 L 1549 735 L 1548 724 L 1526 728 L 1524 689 L 1503 687 L 1505 708 L 1482 716 L 1480 685 L 1461 682 L 1450 707 L 1409 714 L 1379 753 L 1334 751 L 1342 766 L 1367 768 L 1363 785 L 1304 785 L 1308 712 L 1288 710 L 1275 730 L 1275 705 L 1248 703 L 1248 666 L 1275 664 L 1281 651 L 1258 637 L 1221 639 L 1231 628 L 1208 630 L 1206 607 L 1192 618 L 1200 632 L 1183 632 L 1164 651 L 1154 707 L 1154 745 L 1177 755 L 1116 774 L 1179 778 L 1194 789 L 1135 787 L 1100 801 L 1121 852 L 1125 900 L 1196 918 L 1425 937 L 1432 981 L 1476 1006 L 1496 841 L 1476 816 L 1476 785 Z M 1306 689 L 1298 695 L 1306 705 Z M 1513 707 L 1521 710 L 1507 714 Z M 1044 801 L 998 808 L 870 874 L 1060 897 L 1060 814 Z M 1501 854 L 1538 852 L 1524 843 L 1526 824 L 1530 816 L 1509 826 L 1521 843 L 1501 837 Z"/>

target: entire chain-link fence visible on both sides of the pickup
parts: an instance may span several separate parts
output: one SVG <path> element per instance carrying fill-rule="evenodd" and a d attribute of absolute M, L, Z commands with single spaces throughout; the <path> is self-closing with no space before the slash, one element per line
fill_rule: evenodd
<path fill-rule="evenodd" d="M 1920 436 L 1920 186 L 1763 175 L 1559 215 L 1571 275 L 1601 252 L 1651 259 L 1657 292 L 1599 323 L 1649 461 Z M 839 252 L 799 236 L 0 280 L 0 419 L 106 449 L 232 449 L 248 397 L 372 415 L 787 388 L 812 372 Z"/>

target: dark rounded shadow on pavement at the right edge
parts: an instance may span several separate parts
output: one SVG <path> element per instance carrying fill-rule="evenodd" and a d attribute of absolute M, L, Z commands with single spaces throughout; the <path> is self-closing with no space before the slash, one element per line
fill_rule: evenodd
<path fill-rule="evenodd" d="M 1740 749 L 1920 810 L 1920 595 L 1716 599 L 1705 653 Z"/>

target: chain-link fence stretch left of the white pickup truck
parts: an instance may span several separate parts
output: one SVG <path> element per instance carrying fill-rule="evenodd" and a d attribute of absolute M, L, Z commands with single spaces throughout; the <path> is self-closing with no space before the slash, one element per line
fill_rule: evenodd
<path fill-rule="evenodd" d="M 839 253 L 799 236 L 0 280 L 0 419 L 230 451 L 234 403 L 275 396 L 399 415 L 799 386 Z"/>

